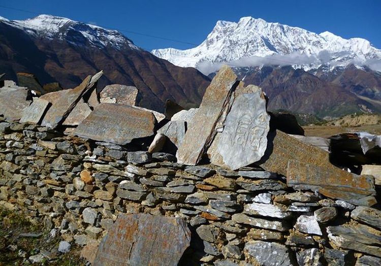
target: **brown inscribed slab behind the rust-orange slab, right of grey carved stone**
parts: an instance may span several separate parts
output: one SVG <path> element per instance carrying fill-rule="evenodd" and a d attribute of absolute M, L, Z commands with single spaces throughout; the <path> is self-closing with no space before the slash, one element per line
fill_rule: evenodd
<path fill-rule="evenodd" d="M 290 160 L 297 160 L 320 167 L 332 166 L 328 152 L 303 143 L 282 131 L 270 131 L 268 139 L 270 141 L 265 155 L 257 163 L 266 171 L 286 176 Z"/>

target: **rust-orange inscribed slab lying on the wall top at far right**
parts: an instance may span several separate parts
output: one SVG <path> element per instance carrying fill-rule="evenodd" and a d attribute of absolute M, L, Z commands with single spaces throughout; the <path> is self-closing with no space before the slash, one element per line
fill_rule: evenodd
<path fill-rule="evenodd" d="M 323 195 L 355 205 L 376 204 L 372 176 L 358 176 L 333 165 L 317 166 L 290 160 L 287 185 L 296 189 L 319 190 Z"/>

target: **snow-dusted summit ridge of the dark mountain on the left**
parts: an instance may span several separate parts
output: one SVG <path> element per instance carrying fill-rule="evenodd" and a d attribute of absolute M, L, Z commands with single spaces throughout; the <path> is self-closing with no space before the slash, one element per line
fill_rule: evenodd
<path fill-rule="evenodd" d="M 117 49 L 140 49 L 117 30 L 109 30 L 63 17 L 39 15 L 26 20 L 2 18 L 0 21 L 18 27 L 36 38 L 65 40 L 78 46 L 90 44 L 98 48 L 110 45 Z"/>

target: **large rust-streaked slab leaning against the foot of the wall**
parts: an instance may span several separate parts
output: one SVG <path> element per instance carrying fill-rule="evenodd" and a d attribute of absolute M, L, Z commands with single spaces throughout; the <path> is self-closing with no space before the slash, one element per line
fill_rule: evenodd
<path fill-rule="evenodd" d="M 183 219 L 122 214 L 102 239 L 93 265 L 176 266 L 189 244 Z"/>

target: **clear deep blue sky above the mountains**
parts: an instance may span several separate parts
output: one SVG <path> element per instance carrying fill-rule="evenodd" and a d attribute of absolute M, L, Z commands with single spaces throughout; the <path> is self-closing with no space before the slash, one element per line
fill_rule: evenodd
<path fill-rule="evenodd" d="M 317 33 L 328 30 L 343 38 L 365 38 L 373 46 L 381 49 L 380 0 L 0 0 L 0 16 L 8 19 L 25 19 L 36 14 L 4 7 L 68 17 L 104 27 L 192 44 L 200 44 L 217 20 L 238 21 L 240 17 L 252 16 L 269 22 L 298 26 Z M 191 44 L 121 32 L 147 50 L 193 47 Z"/>

